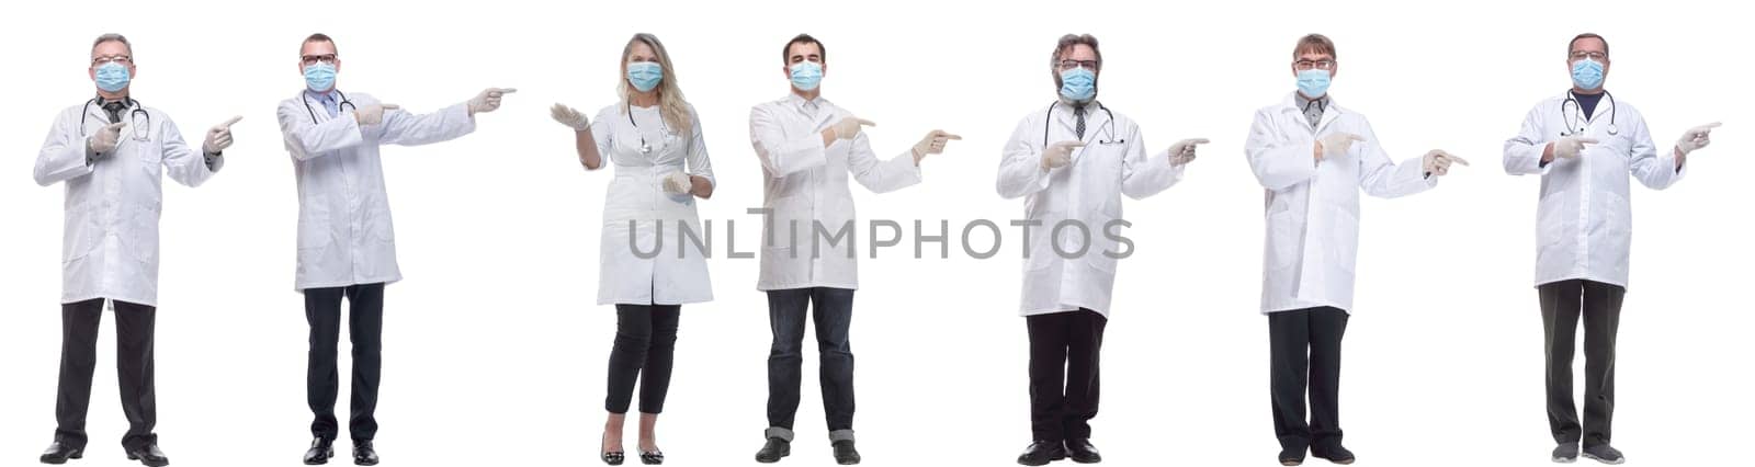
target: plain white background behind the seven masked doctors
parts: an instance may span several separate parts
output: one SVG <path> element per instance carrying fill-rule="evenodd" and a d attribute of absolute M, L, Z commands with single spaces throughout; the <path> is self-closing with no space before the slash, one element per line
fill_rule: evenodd
<path fill-rule="evenodd" d="M 1293 90 L 1290 51 L 1307 32 L 1337 42 L 1334 97 L 1369 116 L 1397 160 L 1443 147 L 1474 162 L 1425 195 L 1364 202 L 1346 444 L 1360 465 L 1548 463 L 1532 288 L 1539 181 L 1506 176 L 1501 144 L 1530 105 L 1569 86 L 1567 39 L 1602 33 L 1608 88 L 1644 112 L 1660 147 L 1692 125 L 1725 123 L 1687 181 L 1634 188 L 1615 444 L 1639 465 L 1746 460 L 1755 409 L 1739 402 L 1755 318 L 1736 290 L 1755 260 L 1744 191 L 1755 123 L 1734 114 L 1751 104 L 1737 33 L 1746 14 L 1734 4 L 14 4 L 0 19 L 11 46 L 0 463 L 33 463 L 54 428 L 63 188 L 26 172 L 51 118 L 93 95 L 88 47 L 105 32 L 135 42 L 133 95 L 191 140 L 244 116 L 219 176 L 165 190 L 158 432 L 176 465 L 295 465 L 309 441 L 307 327 L 291 291 L 297 198 L 274 109 L 304 86 L 297 49 L 312 32 L 337 39 L 342 90 L 418 112 L 486 86 L 519 90 L 479 116 L 474 135 L 384 154 L 407 276 L 386 298 L 386 465 L 597 463 L 614 334 L 611 307 L 593 305 L 611 174 L 579 169 L 572 132 L 548 105 L 595 114 L 612 104 L 616 60 L 635 32 L 670 47 L 667 79 L 700 111 L 720 179 L 702 218 L 742 219 L 741 251 L 758 232 L 744 209 L 762 200 L 748 111 L 786 93 L 779 53 L 799 32 L 827 42 L 825 97 L 878 121 L 878 153 L 902 153 L 932 128 L 965 137 L 925 162 L 920 186 L 855 190 L 865 219 L 1020 216 L 1020 200 L 995 195 L 995 167 L 1016 121 L 1055 97 L 1048 56 L 1069 32 L 1102 40 L 1100 98 L 1137 119 L 1153 151 L 1213 139 L 1183 184 L 1127 207 L 1139 249 L 1116 281 L 1093 423 L 1109 465 L 1274 465 L 1257 313 L 1262 190 L 1241 146 L 1253 111 Z M 907 244 L 862 260 L 855 425 L 867 463 L 1011 465 L 1028 442 L 1020 244 L 1009 241 L 993 260 L 913 260 Z M 718 300 L 684 307 L 660 427 L 676 465 L 751 463 L 767 425 L 756 262 L 716 249 Z M 81 465 L 126 465 L 112 330 L 105 316 Z M 806 362 L 784 463 L 827 465 L 814 351 Z M 346 400 L 344 390 L 342 420 Z M 632 449 L 634 425 L 628 434 Z"/>

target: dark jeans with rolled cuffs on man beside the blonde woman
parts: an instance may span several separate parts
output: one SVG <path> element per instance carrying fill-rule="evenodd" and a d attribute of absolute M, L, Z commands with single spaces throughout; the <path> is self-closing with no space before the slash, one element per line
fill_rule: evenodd
<path fill-rule="evenodd" d="M 853 290 L 793 288 L 770 290 L 769 327 L 769 427 L 792 430 L 799 414 L 799 384 L 804 372 L 804 318 L 814 304 L 818 384 L 823 390 L 823 414 L 828 430 L 853 430 Z"/>

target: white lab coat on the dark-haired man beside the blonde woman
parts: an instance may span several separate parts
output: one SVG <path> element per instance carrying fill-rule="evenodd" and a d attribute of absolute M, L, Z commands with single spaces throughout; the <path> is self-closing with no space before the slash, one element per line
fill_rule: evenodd
<path fill-rule="evenodd" d="M 841 239 L 834 246 L 816 241 L 813 255 L 814 225 L 820 223 L 828 232 L 825 235 L 834 237 L 856 219 L 848 174 L 874 193 L 920 183 L 913 149 L 879 160 L 865 133 L 823 147 L 821 132 L 848 116 L 853 114 L 827 98 L 806 102 L 795 93 L 749 109 L 749 144 L 762 158 L 765 176 L 762 207 L 770 209 L 762 228 L 756 290 L 858 288 L 853 241 Z M 862 228 L 851 228 L 856 239 Z"/>

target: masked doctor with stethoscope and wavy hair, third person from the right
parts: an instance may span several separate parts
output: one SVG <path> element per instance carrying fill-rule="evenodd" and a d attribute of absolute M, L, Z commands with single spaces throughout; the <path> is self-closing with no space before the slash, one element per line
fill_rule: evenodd
<path fill-rule="evenodd" d="M 1030 334 L 1032 442 L 1018 456 L 1023 465 L 1102 460 L 1090 420 L 1121 256 L 1121 195 L 1139 200 L 1171 188 L 1195 158 L 1195 144 L 1206 142 L 1186 139 L 1146 156 L 1139 125 L 1097 102 L 1102 53 L 1092 35 L 1060 37 L 1048 70 L 1060 97 L 1018 121 L 997 183 L 1000 197 L 1025 198 L 1028 223 L 1021 314 Z"/>

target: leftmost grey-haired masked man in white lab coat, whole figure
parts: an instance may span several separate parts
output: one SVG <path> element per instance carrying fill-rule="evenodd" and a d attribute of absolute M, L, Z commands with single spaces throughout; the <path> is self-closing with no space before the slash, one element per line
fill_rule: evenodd
<path fill-rule="evenodd" d="M 214 126 L 200 147 L 183 142 L 170 116 L 128 93 L 133 46 L 121 35 L 91 44 L 97 98 L 67 107 L 37 153 L 37 184 L 67 186 L 61 239 L 61 376 L 54 404 L 54 442 L 42 462 L 63 463 L 86 448 L 86 407 L 97 369 L 104 304 L 116 309 L 116 379 L 130 458 L 165 465 L 153 425 L 153 321 L 158 311 L 160 179 L 200 186 L 232 146 L 232 123 Z"/>

